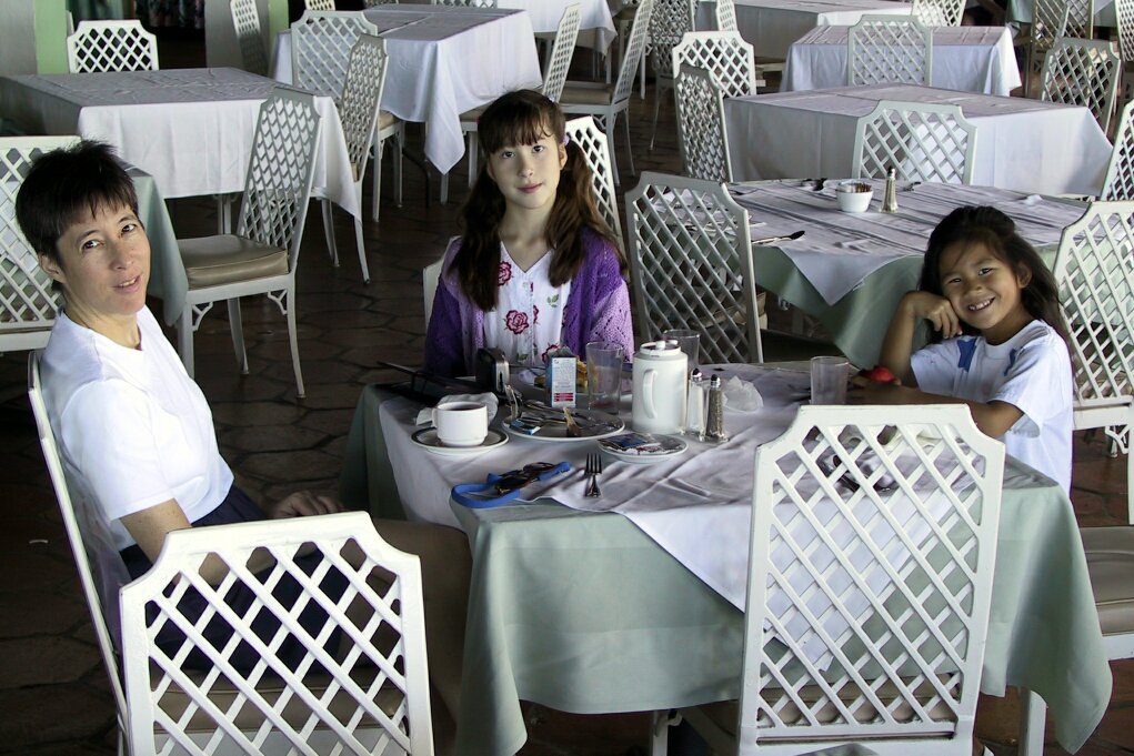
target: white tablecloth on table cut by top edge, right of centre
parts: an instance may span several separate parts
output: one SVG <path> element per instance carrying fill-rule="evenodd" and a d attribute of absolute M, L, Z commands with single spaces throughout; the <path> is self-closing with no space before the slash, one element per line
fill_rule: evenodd
<path fill-rule="evenodd" d="M 699 29 L 717 28 L 716 3 L 697 7 Z M 894 0 L 736 0 L 736 25 L 758 58 L 787 58 L 788 48 L 816 26 L 850 26 L 866 14 L 908 16 Z"/>

